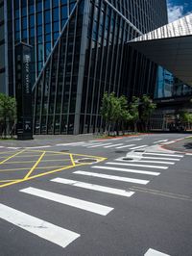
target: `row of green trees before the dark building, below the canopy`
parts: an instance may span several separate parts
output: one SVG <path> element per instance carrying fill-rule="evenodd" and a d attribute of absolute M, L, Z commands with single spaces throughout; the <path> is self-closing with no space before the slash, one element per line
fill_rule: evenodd
<path fill-rule="evenodd" d="M 110 94 L 105 92 L 102 100 L 101 115 L 106 121 L 108 135 L 110 130 L 114 131 L 114 127 L 116 127 L 118 135 L 120 125 L 124 130 L 125 124 L 128 123 L 132 123 L 133 130 L 136 132 L 138 121 L 145 124 L 143 130 L 146 130 L 146 123 L 155 109 L 156 104 L 147 95 L 143 95 L 141 98 L 132 97 L 132 102 L 128 104 L 128 100 L 124 95 L 116 97 L 114 92 Z"/>

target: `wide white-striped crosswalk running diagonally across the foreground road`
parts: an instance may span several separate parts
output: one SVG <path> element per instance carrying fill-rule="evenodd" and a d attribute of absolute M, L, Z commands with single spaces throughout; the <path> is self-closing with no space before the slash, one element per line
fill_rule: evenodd
<path fill-rule="evenodd" d="M 132 161 L 114 159 L 103 164 L 98 163 L 89 166 L 88 169 L 83 169 L 83 167 L 79 166 L 78 169 L 69 174 L 70 178 L 59 176 L 51 179 L 49 181 L 50 186 L 48 186 L 49 190 L 28 187 L 21 189 L 19 192 L 28 200 L 35 198 L 36 200 L 46 200 L 60 204 L 63 207 L 63 211 L 64 207 L 67 206 L 74 209 L 74 211 L 78 209 L 78 211 L 86 212 L 87 215 L 105 218 L 115 211 L 114 205 L 108 205 L 108 197 L 105 196 L 122 196 L 125 200 L 130 200 L 132 195 L 135 195 L 135 191 L 132 188 L 123 190 L 121 185 L 125 186 L 126 184 L 132 187 L 132 184 L 139 184 L 146 186 L 159 176 L 161 171 L 166 171 L 170 166 L 179 163 L 182 157 L 183 155 L 181 154 L 144 151 L 140 155 L 135 154 L 135 159 Z M 85 181 L 83 181 L 84 179 Z M 102 182 L 102 185 L 100 185 L 100 182 Z M 108 186 L 105 186 L 105 183 L 108 183 Z M 51 185 L 53 185 L 53 188 Z M 55 191 L 54 185 L 60 186 L 60 193 Z M 76 196 L 64 194 L 65 189 L 69 187 L 72 191 L 76 190 L 76 188 L 79 189 L 79 192 L 76 192 Z M 97 202 L 90 201 L 90 199 L 80 199 L 81 192 L 84 192 L 85 196 L 87 195 L 88 197 L 90 191 L 95 194 Z M 102 203 L 100 203 L 101 194 L 105 194 L 105 196 L 102 196 Z M 104 203 L 105 200 L 106 202 Z M 111 200 L 109 202 L 112 204 Z M 81 237 L 81 234 L 79 234 L 81 232 L 74 230 L 74 228 L 72 228 L 73 230 L 66 229 L 4 204 L 0 204 L 0 218 L 63 248 Z"/>

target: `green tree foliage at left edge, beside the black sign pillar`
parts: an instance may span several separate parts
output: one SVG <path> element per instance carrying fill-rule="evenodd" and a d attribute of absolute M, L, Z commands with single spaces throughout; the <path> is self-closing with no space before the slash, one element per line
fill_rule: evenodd
<path fill-rule="evenodd" d="M 13 97 L 0 93 L 0 126 L 1 135 L 6 137 L 7 126 L 13 124 L 16 119 L 16 101 Z"/>

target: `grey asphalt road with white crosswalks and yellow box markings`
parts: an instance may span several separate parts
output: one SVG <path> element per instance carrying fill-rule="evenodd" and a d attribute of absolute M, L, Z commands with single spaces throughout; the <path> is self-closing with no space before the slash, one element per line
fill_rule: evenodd
<path fill-rule="evenodd" d="M 0 148 L 0 256 L 191 256 L 184 137 Z"/>

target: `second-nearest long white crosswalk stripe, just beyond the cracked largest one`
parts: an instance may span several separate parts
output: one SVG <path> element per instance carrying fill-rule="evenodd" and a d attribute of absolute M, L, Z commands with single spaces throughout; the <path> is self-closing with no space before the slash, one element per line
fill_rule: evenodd
<path fill-rule="evenodd" d="M 65 204 L 65 205 L 69 205 L 72 207 L 76 207 L 76 208 L 82 209 L 84 211 L 95 213 L 95 214 L 98 214 L 101 216 L 107 216 L 108 213 L 113 210 L 113 208 L 105 206 L 105 205 L 84 201 L 84 200 L 77 199 L 74 197 L 62 195 L 60 193 L 38 190 L 38 189 L 32 188 L 32 187 L 29 187 L 24 190 L 20 190 L 20 192 L 26 192 L 29 194 L 33 194 L 33 195 L 39 196 L 41 198 L 52 200 L 52 201 L 58 202 L 60 204 Z"/>

